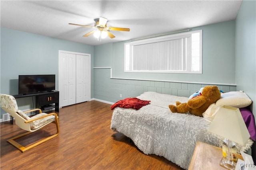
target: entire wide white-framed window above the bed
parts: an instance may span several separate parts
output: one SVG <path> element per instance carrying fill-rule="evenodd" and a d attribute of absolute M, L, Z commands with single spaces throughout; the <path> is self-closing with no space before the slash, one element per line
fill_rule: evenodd
<path fill-rule="evenodd" d="M 202 73 L 202 30 L 124 44 L 124 72 Z"/>

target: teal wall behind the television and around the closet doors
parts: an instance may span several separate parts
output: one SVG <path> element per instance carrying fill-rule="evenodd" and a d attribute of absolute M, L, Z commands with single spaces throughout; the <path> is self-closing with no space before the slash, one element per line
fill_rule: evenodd
<path fill-rule="evenodd" d="M 94 46 L 2 27 L 0 31 L 0 92 L 3 94 L 18 94 L 19 74 L 56 74 L 56 90 L 58 90 L 59 50 L 91 54 L 92 67 L 94 65 Z M 94 79 L 93 71 L 91 72 L 93 98 Z M 17 102 L 20 109 L 33 108 L 31 98 L 18 99 Z"/>

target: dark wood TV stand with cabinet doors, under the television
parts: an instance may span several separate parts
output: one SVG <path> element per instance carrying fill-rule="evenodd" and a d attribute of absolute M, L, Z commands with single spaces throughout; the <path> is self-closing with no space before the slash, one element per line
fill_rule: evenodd
<path fill-rule="evenodd" d="M 36 97 L 36 108 L 40 108 L 42 110 L 52 109 L 59 112 L 59 91 L 53 90 L 51 92 L 38 92 L 35 94 L 17 94 L 13 95 L 15 99 L 18 98 L 27 98 L 27 97 Z M 51 106 L 51 104 L 55 104 Z M 11 123 L 13 123 L 13 117 L 11 119 Z"/>

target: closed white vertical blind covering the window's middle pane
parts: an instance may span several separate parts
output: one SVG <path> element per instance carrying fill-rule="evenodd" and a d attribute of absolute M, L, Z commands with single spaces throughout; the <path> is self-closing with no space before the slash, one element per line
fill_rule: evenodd
<path fill-rule="evenodd" d="M 186 70 L 186 38 L 134 45 L 133 70 Z"/>

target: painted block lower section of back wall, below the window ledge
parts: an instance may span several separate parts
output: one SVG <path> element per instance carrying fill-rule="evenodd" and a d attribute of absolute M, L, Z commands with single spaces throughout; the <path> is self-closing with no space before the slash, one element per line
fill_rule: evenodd
<path fill-rule="evenodd" d="M 208 84 L 164 82 L 153 80 L 130 80 L 110 78 L 110 68 L 94 69 L 94 98 L 113 104 L 118 100 L 136 97 L 144 92 L 158 92 L 189 97 Z M 219 85 L 224 92 L 236 91 L 236 86 Z M 120 94 L 122 97 L 120 98 Z"/>

